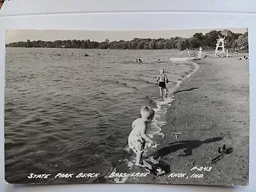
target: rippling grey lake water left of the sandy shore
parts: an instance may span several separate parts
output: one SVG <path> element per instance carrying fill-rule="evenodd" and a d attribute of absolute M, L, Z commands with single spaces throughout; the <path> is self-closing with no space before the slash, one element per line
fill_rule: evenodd
<path fill-rule="evenodd" d="M 86 57 L 84 54 L 89 56 Z M 156 79 L 164 68 L 170 92 L 191 72 L 173 50 L 6 49 L 5 174 L 12 183 L 111 182 L 127 169 L 132 121 L 156 109 L 147 133 L 161 140 L 166 108 Z M 60 55 L 58 55 L 60 54 Z M 141 58 L 142 63 L 136 63 Z M 157 60 L 161 60 L 158 63 Z M 146 150 L 147 154 L 147 150 Z M 130 168 L 131 169 L 131 168 Z M 100 173 L 97 179 L 28 179 L 30 173 Z M 129 181 L 128 181 L 129 182 Z"/>

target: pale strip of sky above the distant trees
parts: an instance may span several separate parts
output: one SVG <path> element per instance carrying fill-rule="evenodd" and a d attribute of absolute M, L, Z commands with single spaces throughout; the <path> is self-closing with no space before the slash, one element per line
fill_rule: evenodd
<path fill-rule="evenodd" d="M 195 33 L 208 33 L 212 30 L 223 29 L 186 29 L 186 30 L 164 30 L 164 31 L 72 31 L 72 30 L 33 30 L 12 29 L 6 30 L 6 44 L 33 40 L 87 40 L 103 42 L 108 38 L 110 41 L 132 40 L 133 38 L 171 38 L 175 36 L 191 37 Z M 229 29 L 234 33 L 244 33 L 243 29 Z"/>

